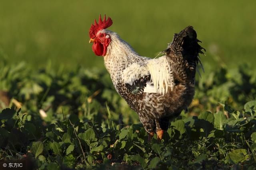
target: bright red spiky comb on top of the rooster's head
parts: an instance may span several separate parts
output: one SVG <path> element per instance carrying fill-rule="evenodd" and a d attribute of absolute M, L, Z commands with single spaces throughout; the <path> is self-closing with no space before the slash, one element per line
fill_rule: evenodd
<path fill-rule="evenodd" d="M 90 27 L 89 35 L 90 38 L 94 38 L 96 36 L 96 33 L 100 31 L 101 29 L 106 29 L 112 25 L 113 21 L 110 17 L 108 17 L 108 20 L 106 20 L 106 15 L 104 15 L 103 21 L 101 20 L 101 15 L 99 18 L 99 23 L 94 20 L 94 25 L 92 24 Z"/>

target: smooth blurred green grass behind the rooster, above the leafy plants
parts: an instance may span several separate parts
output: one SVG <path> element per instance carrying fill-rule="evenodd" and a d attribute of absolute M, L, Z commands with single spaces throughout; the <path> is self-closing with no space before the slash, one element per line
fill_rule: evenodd
<path fill-rule="evenodd" d="M 88 30 L 106 14 L 113 20 L 109 29 L 140 55 L 155 57 L 174 33 L 193 25 L 207 50 L 206 67 L 254 64 L 255 6 L 254 0 L 0 0 L 0 58 L 36 69 L 49 63 L 57 69 L 103 68 L 88 43 Z"/>

